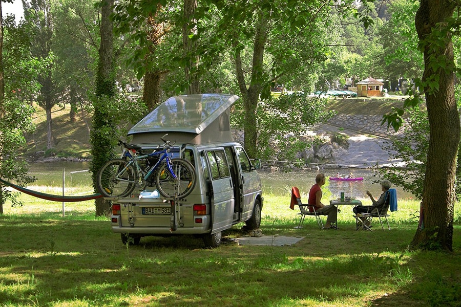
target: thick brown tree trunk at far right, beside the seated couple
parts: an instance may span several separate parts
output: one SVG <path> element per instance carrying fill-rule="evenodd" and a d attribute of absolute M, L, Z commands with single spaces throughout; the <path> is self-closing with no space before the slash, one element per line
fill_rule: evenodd
<path fill-rule="evenodd" d="M 418 38 L 425 46 L 423 82 L 426 82 L 424 91 L 430 137 L 422 222 L 416 230 L 411 248 L 452 251 L 456 155 L 460 138 L 459 115 L 454 98 L 453 45 L 450 35 L 431 35 L 444 30 L 445 19 L 453 15 L 453 5 L 448 0 L 421 0 L 415 17 Z M 435 38 L 438 45 L 431 43 L 431 38 Z M 435 59 L 444 59 L 448 67 L 434 66 Z M 438 89 L 431 85 L 431 81 L 438 85 Z"/>

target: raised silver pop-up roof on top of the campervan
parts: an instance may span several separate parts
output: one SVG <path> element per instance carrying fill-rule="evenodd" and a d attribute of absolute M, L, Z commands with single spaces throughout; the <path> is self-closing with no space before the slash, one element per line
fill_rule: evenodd
<path fill-rule="evenodd" d="M 165 133 L 169 139 L 184 143 L 232 141 L 229 109 L 238 98 L 228 94 L 170 97 L 134 125 L 128 135 L 138 144 L 150 143 Z"/>

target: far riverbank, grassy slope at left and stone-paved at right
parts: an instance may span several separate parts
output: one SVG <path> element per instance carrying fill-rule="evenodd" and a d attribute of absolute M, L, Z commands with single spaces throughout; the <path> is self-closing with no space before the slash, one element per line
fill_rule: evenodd
<path fill-rule="evenodd" d="M 381 138 L 387 138 L 387 127 L 381 126 L 383 114 L 391 111 L 393 106 L 402 106 L 402 97 L 381 98 L 348 98 L 333 99 L 328 102 L 328 109 L 337 115 L 324 124 L 311 127 L 312 136 L 331 136 L 337 133 L 347 135 L 348 148 L 326 144 L 317 152 L 302 152 L 300 158 L 313 162 L 306 167 L 370 167 L 373 162 L 386 165 L 390 161 L 386 151 L 382 150 Z M 55 148 L 46 150 L 46 116 L 38 106 L 34 115 L 37 128 L 33 135 L 28 136 L 25 157 L 34 163 L 58 161 L 90 161 L 90 128 L 91 117 L 79 111 L 74 122 L 69 121 L 69 108 L 53 107 L 53 135 Z M 243 143 L 243 132 L 234 131 L 236 141 Z M 312 157 L 309 157 L 311 155 Z M 374 159 L 375 157 L 376 159 Z M 374 160 L 375 161 L 374 161 Z"/>

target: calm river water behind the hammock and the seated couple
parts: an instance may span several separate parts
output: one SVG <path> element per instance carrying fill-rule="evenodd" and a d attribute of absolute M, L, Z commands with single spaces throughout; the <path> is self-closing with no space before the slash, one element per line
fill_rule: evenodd
<path fill-rule="evenodd" d="M 37 181 L 33 185 L 62 186 L 62 173 L 65 173 L 66 187 L 77 185 L 91 186 L 91 176 L 88 171 L 88 162 L 50 162 L 50 163 L 31 163 L 29 174 L 35 176 Z M 378 198 L 381 191 L 379 178 L 373 177 L 373 172 L 369 169 L 327 169 L 324 170 L 326 177 L 335 177 L 339 172 L 343 176 L 352 171 L 355 177 L 363 177 L 363 181 L 328 181 L 327 188 L 331 195 L 329 198 L 338 198 L 341 192 L 346 196 L 360 199 L 367 199 L 366 191 L 369 190 L 375 198 Z M 263 184 L 263 193 L 274 193 L 279 195 L 289 195 L 291 187 L 297 186 L 302 193 L 308 193 L 310 187 L 315 183 L 316 170 L 296 170 L 291 172 L 268 172 L 259 171 Z M 397 196 L 399 198 L 414 198 L 411 193 L 404 192 L 399 187 Z"/>

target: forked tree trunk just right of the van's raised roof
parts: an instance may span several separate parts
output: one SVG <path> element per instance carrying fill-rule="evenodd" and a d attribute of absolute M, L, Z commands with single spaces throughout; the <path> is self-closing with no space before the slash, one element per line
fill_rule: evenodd
<path fill-rule="evenodd" d="M 259 94 L 262 90 L 263 80 L 263 59 L 264 46 L 267 40 L 267 18 L 260 13 L 259 21 L 255 29 L 255 40 L 252 61 L 252 75 L 250 84 L 246 86 L 240 52 L 236 52 L 235 65 L 237 82 L 240 93 L 242 94 L 243 105 L 245 107 L 245 119 L 243 122 L 245 135 L 244 146 L 248 156 L 255 158 L 257 156 L 258 129 L 256 118 L 256 107 L 258 106 Z M 236 44 L 237 42 L 235 42 Z M 237 45 L 234 45 L 236 47 Z"/>

